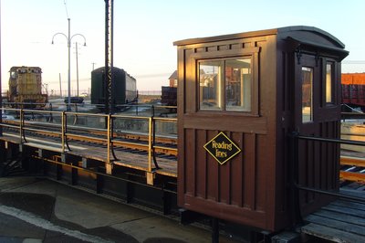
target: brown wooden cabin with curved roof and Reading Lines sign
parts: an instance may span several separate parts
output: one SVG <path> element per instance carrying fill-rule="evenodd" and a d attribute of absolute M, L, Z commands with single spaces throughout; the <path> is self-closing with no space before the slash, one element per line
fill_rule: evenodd
<path fill-rule="evenodd" d="M 287 137 L 339 138 L 344 45 L 310 26 L 174 45 L 179 206 L 269 231 L 295 223 Z M 298 154 L 298 184 L 338 190 L 339 146 L 300 142 Z M 299 209 L 327 202 L 301 191 Z"/>

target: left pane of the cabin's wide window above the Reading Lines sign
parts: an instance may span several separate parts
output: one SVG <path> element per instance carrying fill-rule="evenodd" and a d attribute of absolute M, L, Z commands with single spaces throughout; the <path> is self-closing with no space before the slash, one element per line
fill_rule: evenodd
<path fill-rule="evenodd" d="M 199 100 L 201 110 L 222 110 L 221 79 L 224 62 L 199 62 Z"/>

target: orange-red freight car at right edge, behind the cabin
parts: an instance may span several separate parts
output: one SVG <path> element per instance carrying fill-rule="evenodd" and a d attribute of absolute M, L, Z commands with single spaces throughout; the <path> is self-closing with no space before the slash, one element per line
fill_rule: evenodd
<path fill-rule="evenodd" d="M 343 73 L 341 86 L 342 104 L 365 111 L 365 73 Z"/>

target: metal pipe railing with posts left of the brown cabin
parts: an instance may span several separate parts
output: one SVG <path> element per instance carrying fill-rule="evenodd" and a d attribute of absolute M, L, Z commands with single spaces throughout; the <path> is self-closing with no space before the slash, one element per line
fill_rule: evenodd
<path fill-rule="evenodd" d="M 107 159 L 106 162 L 112 164 L 114 161 L 118 161 L 116 154 L 114 153 L 115 144 L 119 146 L 126 145 L 127 143 L 131 144 L 132 142 L 122 142 L 115 138 L 115 133 L 117 129 L 115 129 L 115 122 L 118 120 L 133 120 L 133 121 L 142 121 L 147 125 L 146 133 L 148 134 L 148 142 L 147 144 L 138 143 L 138 146 L 144 147 L 148 152 L 148 166 L 147 172 L 152 173 L 153 170 L 159 169 L 159 165 L 156 161 L 155 150 L 156 149 L 169 149 L 170 147 L 163 147 L 156 145 L 156 122 L 172 122 L 176 123 L 176 118 L 164 118 L 164 117 L 154 117 L 154 112 L 151 112 L 151 116 L 132 116 L 132 115 L 118 115 L 118 114 L 99 114 L 99 113 L 81 113 L 81 112 L 73 112 L 73 111 L 42 111 L 42 110 L 26 110 L 26 109 L 14 109 L 14 108 L 1 108 L 3 113 L 9 114 L 11 113 L 14 119 L 17 121 L 15 123 L 6 123 L 5 119 L 0 123 L 0 127 L 16 129 L 18 130 L 18 139 L 19 143 L 27 143 L 26 141 L 26 132 L 47 132 L 47 134 L 53 134 L 54 136 L 60 138 L 60 152 L 68 153 L 71 151 L 71 146 L 68 144 L 68 140 L 70 137 L 84 139 L 85 141 L 98 141 L 99 143 L 105 144 L 107 147 Z M 43 122 L 35 122 L 36 118 L 42 118 Z M 103 127 L 89 127 L 82 125 L 75 125 L 75 121 L 77 121 L 81 117 L 89 117 L 89 118 L 97 118 L 99 119 L 101 126 Z M 71 125 L 68 124 L 69 121 L 72 122 Z M 38 126 L 31 127 L 31 125 L 37 124 Z M 42 124 L 44 127 L 42 127 Z M 55 129 L 55 131 L 45 130 L 45 128 L 51 126 Z M 75 128 L 78 129 L 78 133 L 71 132 L 75 131 Z M 102 134 L 102 136 L 92 136 L 92 134 L 85 133 L 89 131 L 94 131 L 95 133 Z M 82 133 L 84 131 L 84 133 Z M 81 133 L 79 133 L 81 132 Z M 92 133 L 94 133 L 92 132 Z M 128 132 L 128 131 L 125 131 Z M 135 143 L 137 145 L 137 143 Z M 177 153 L 177 149 L 176 153 Z M 154 164 L 154 167 L 152 166 Z"/>

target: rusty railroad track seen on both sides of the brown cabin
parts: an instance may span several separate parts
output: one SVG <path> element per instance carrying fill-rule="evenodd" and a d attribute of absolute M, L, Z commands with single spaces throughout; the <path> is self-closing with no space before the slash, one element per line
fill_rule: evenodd
<path fill-rule="evenodd" d="M 75 118 L 76 119 L 76 118 Z M 23 137 L 51 137 L 57 143 L 61 143 L 59 131 L 62 129 L 59 122 L 26 121 L 23 123 Z M 3 120 L 6 125 L 5 132 L 20 134 L 19 120 Z M 76 123 L 76 122 L 73 122 Z M 107 147 L 106 138 L 108 130 L 102 128 L 89 128 L 80 125 L 67 125 L 65 132 L 67 142 L 73 145 L 85 145 L 92 143 L 93 146 Z M 156 134 L 151 136 L 148 132 L 130 132 L 121 129 L 112 129 L 111 140 L 112 147 L 115 150 L 137 150 L 147 152 L 149 150 L 150 140 L 153 143 L 153 150 L 156 154 L 162 156 L 177 156 L 177 137 Z M 339 177 L 342 182 L 357 182 L 360 185 L 365 184 L 365 159 L 352 156 L 341 156 Z"/>

